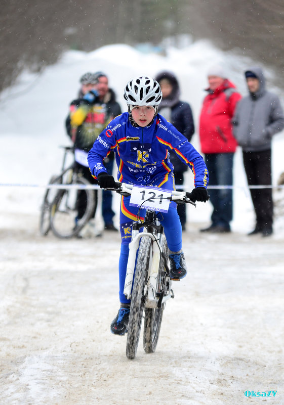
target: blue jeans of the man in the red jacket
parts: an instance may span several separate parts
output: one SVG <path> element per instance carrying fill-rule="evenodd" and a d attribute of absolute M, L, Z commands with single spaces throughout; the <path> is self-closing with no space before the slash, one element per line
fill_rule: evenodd
<path fill-rule="evenodd" d="M 210 186 L 233 185 L 233 157 L 234 153 L 205 154 L 205 163 L 210 175 Z M 212 226 L 230 229 L 230 221 L 233 218 L 232 189 L 209 189 L 208 193 L 210 202 L 213 205 Z"/>

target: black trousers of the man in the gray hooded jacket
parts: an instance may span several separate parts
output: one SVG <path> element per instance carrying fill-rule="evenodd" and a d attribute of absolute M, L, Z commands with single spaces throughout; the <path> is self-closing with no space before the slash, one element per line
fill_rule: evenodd
<path fill-rule="evenodd" d="M 271 186 L 271 150 L 242 152 L 249 186 Z M 272 229 L 272 189 L 250 189 L 256 214 L 256 228 Z"/>

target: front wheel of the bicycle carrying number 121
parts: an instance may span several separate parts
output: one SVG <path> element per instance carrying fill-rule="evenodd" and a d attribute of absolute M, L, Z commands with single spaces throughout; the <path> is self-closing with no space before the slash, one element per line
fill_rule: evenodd
<path fill-rule="evenodd" d="M 126 355 L 129 359 L 136 356 L 142 316 L 145 308 L 145 285 L 148 279 L 148 269 L 151 255 L 151 239 L 141 238 L 135 269 L 134 285 L 131 296 L 130 315 L 127 332 Z"/>

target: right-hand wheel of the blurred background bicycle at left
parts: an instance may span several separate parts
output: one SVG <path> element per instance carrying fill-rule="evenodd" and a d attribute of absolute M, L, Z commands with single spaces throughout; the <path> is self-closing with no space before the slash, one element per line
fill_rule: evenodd
<path fill-rule="evenodd" d="M 88 186 L 90 183 L 84 178 L 74 178 L 74 185 Z M 50 209 L 50 225 L 55 236 L 68 239 L 77 235 L 96 210 L 97 201 L 94 198 L 94 191 L 84 189 L 86 193 L 86 210 L 79 220 L 77 217 L 77 189 L 59 190 Z"/>

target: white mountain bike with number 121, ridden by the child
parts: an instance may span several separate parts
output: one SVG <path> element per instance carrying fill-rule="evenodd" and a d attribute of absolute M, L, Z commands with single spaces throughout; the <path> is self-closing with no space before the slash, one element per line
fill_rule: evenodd
<path fill-rule="evenodd" d="M 146 353 L 153 353 L 159 338 L 161 321 L 166 301 L 174 298 L 172 279 L 168 265 L 168 246 L 164 228 L 157 219 L 157 212 L 167 212 L 170 200 L 177 203 L 191 203 L 190 193 L 169 191 L 155 187 L 141 187 L 116 183 L 114 189 L 122 196 L 131 195 L 133 205 L 146 208 L 142 221 L 138 212 L 133 222 L 132 240 L 129 244 L 129 258 L 124 294 L 131 299 L 126 355 L 134 359 L 137 352 L 142 318 L 144 316 L 143 347 Z M 140 198 L 141 197 L 141 198 Z M 156 200 L 156 201 L 155 201 Z M 142 232 L 140 232 L 140 230 Z"/>

